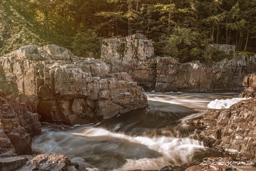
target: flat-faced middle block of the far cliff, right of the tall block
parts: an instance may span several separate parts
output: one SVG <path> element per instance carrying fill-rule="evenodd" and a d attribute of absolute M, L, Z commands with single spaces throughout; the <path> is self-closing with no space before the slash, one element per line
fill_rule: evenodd
<path fill-rule="evenodd" d="M 172 57 L 157 58 L 156 92 L 211 92 L 212 70 L 210 67 L 192 61 L 179 63 Z"/>

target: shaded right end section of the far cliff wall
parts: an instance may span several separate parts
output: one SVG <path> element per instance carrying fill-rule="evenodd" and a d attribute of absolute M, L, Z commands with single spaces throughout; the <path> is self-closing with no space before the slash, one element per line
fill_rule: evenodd
<path fill-rule="evenodd" d="M 248 74 L 256 72 L 256 55 L 234 55 L 231 60 L 224 59 L 212 63 L 215 89 L 242 88 L 242 81 Z"/>

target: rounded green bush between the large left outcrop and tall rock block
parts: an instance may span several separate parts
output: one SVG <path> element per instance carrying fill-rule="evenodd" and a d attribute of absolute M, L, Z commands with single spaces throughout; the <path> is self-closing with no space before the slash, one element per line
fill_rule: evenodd
<path fill-rule="evenodd" d="M 72 42 L 72 49 L 79 57 L 99 57 L 99 40 L 95 31 L 88 29 L 86 32 L 79 32 Z"/>

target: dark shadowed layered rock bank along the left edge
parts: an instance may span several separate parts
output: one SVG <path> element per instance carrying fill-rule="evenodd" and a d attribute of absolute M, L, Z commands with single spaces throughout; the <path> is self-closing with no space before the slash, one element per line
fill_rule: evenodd
<path fill-rule="evenodd" d="M 40 134 L 38 114 L 0 66 L 0 156 L 32 154 L 31 135 Z"/>

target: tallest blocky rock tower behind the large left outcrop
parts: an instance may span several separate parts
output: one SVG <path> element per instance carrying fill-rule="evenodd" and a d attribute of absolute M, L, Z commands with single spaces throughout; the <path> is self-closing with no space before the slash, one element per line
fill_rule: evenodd
<path fill-rule="evenodd" d="M 142 34 L 102 40 L 101 60 L 110 72 L 127 72 L 146 91 L 155 89 L 156 63 L 153 41 Z"/>

